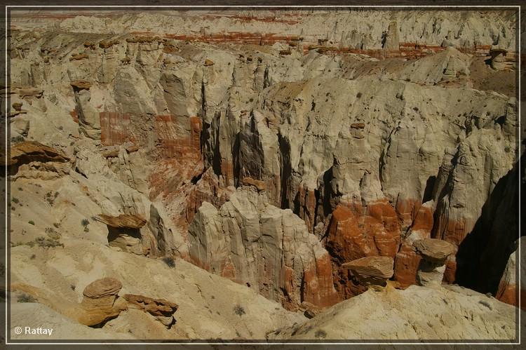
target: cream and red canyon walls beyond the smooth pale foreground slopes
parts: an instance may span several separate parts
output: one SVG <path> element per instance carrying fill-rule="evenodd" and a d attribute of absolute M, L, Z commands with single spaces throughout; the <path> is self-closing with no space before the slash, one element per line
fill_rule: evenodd
<path fill-rule="evenodd" d="M 499 227 L 521 152 L 513 13 L 13 18 L 13 195 L 45 200 L 14 244 L 63 228 L 289 310 L 364 292 L 343 266 L 363 257 L 391 258 L 398 288 L 432 270 L 497 293 L 518 238 Z M 454 250 L 433 269 L 426 238 Z"/>

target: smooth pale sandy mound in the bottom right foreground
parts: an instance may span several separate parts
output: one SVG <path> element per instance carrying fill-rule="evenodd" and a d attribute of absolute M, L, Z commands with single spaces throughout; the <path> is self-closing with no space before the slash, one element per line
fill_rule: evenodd
<path fill-rule="evenodd" d="M 393 319 L 397 322 L 385 321 Z M 508 339 L 514 332 L 515 309 L 497 299 L 461 287 L 412 285 L 406 290 L 368 290 L 309 321 L 271 333 L 269 339 L 480 340 Z"/>

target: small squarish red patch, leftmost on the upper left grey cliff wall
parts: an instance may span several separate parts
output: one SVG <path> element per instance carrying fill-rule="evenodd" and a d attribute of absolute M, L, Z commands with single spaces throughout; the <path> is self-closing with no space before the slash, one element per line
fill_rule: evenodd
<path fill-rule="evenodd" d="M 130 134 L 129 114 L 100 112 L 100 141 L 104 146 L 135 142 L 135 137 Z"/>

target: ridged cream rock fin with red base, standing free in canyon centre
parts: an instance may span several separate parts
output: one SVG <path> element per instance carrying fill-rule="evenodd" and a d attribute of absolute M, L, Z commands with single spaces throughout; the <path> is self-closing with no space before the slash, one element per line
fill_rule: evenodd
<path fill-rule="evenodd" d="M 238 190 L 220 210 L 204 202 L 189 227 L 189 256 L 288 309 L 339 301 L 327 251 L 291 210 L 271 206 L 265 192 Z"/>

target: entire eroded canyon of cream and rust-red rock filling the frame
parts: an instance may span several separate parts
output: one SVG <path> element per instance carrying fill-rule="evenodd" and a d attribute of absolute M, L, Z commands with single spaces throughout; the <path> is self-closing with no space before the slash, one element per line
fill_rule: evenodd
<path fill-rule="evenodd" d="M 515 26 L 12 11 L 10 288 L 37 302 L 11 317 L 61 339 L 515 339 Z"/>

